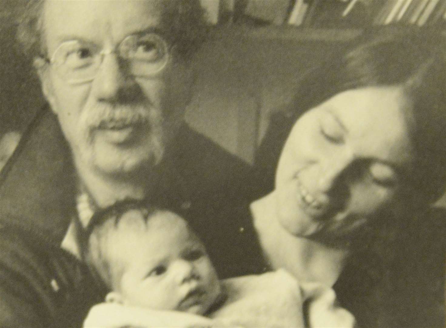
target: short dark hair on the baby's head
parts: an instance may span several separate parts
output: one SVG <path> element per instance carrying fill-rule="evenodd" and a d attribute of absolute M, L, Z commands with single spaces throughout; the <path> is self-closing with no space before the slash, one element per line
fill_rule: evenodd
<path fill-rule="evenodd" d="M 116 265 L 113 270 L 111 269 L 113 264 L 109 254 L 107 254 L 107 248 L 104 248 L 103 245 L 107 242 L 111 229 L 116 228 L 124 214 L 130 210 L 139 211 L 145 224 L 155 214 L 169 211 L 161 207 L 147 205 L 139 200 L 125 199 L 95 212 L 86 229 L 79 236 L 83 259 L 90 267 L 95 278 L 100 283 L 105 284 L 108 290 L 114 289 L 116 276 L 121 276 L 122 273 L 116 273 L 116 270 L 119 270 Z"/>

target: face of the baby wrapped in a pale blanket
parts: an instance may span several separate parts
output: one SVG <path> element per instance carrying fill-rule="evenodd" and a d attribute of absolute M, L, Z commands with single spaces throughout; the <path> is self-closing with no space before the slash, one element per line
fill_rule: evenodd
<path fill-rule="evenodd" d="M 220 294 L 217 273 L 185 221 L 158 212 L 146 225 L 137 210 L 124 214 L 114 249 L 124 261 L 119 286 L 124 304 L 204 314 Z"/>

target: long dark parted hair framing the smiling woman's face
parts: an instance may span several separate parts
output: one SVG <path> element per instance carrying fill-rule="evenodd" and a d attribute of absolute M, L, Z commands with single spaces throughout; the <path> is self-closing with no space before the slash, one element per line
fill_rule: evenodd
<path fill-rule="evenodd" d="M 273 189 L 274 175 L 288 134 L 307 110 L 349 89 L 405 88 L 413 102 L 411 137 L 420 177 L 413 177 L 421 203 L 440 197 L 446 184 L 446 38 L 431 29 L 380 27 L 365 31 L 326 56 L 294 82 L 293 99 L 270 119 L 255 159 L 262 192 Z M 433 165 L 434 164 L 434 165 Z M 419 198 L 420 198 L 419 197 Z"/>

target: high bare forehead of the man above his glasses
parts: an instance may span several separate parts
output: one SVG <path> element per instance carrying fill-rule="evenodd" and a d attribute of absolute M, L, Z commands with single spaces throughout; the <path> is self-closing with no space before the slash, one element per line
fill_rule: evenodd
<path fill-rule="evenodd" d="M 47 46 L 69 38 L 102 43 L 119 42 L 128 34 L 161 28 L 162 12 L 170 1 L 162 0 L 46 0 L 44 29 Z"/>

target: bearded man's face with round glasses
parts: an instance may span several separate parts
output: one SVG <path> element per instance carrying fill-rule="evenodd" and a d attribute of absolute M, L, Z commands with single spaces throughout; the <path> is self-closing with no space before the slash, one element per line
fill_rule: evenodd
<path fill-rule="evenodd" d="M 100 174 L 150 167 L 182 121 L 191 77 L 161 37 L 163 5 L 45 1 L 44 41 L 49 58 L 57 60 L 39 74 L 78 166 Z M 121 43 L 129 35 L 130 42 Z M 132 46 L 145 61 L 125 58 Z M 91 74 L 83 63 L 93 58 L 99 64 Z"/>

